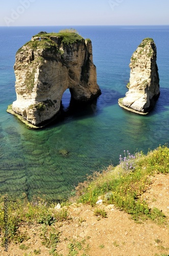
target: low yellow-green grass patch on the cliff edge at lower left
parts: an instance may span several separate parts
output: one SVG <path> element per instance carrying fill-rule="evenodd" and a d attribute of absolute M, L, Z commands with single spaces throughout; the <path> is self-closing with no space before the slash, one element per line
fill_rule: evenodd
<path fill-rule="evenodd" d="M 5 197 L 6 198 L 6 197 Z M 0 203 L 1 209 L 4 209 L 4 200 Z M 16 200 L 16 202 L 8 202 L 8 240 L 14 243 L 22 243 L 30 238 L 19 227 L 24 224 L 41 224 L 46 227 L 52 226 L 54 223 L 62 222 L 68 218 L 68 211 L 65 208 L 56 209 L 56 204 L 46 203 L 44 200 L 27 202 Z M 0 237 L 1 246 L 5 244 L 5 222 L 4 211 L 0 211 Z M 51 228 L 49 228 L 51 229 Z"/>

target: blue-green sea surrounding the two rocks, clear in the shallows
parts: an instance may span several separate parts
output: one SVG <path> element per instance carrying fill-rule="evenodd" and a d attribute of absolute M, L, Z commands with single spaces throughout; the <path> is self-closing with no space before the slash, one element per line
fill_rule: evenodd
<path fill-rule="evenodd" d="M 146 154 L 169 140 L 169 26 L 74 26 L 92 40 L 99 98 L 76 108 L 67 90 L 63 119 L 37 131 L 6 112 L 16 99 L 17 50 L 42 30 L 64 28 L 0 27 L 0 194 L 11 199 L 63 199 L 87 175 L 118 164 L 124 150 Z M 127 92 L 131 55 L 145 37 L 157 47 L 161 94 L 154 110 L 142 116 L 120 108 L 118 99 Z"/>

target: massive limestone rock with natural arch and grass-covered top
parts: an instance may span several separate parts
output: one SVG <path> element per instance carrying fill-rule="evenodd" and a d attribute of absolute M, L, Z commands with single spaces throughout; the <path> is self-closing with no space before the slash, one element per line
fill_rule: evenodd
<path fill-rule="evenodd" d="M 12 110 L 37 126 L 59 112 L 65 90 L 79 101 L 100 94 L 92 42 L 75 32 L 33 36 L 16 53 L 14 70 L 17 99 Z"/>

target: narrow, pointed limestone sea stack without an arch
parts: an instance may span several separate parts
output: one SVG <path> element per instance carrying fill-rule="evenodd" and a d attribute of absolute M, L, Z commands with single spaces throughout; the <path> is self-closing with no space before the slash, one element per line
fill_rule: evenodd
<path fill-rule="evenodd" d="M 160 95 L 157 52 L 154 40 L 145 38 L 130 60 L 129 91 L 119 99 L 122 108 L 138 114 L 147 114 Z"/>

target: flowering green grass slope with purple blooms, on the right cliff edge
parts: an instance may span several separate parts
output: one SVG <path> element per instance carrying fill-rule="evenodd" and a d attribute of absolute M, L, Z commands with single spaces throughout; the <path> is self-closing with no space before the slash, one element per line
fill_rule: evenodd
<path fill-rule="evenodd" d="M 156 208 L 150 209 L 142 195 L 149 187 L 150 176 L 169 173 L 169 148 L 159 146 L 144 155 L 143 152 L 120 156 L 120 165 L 109 166 L 103 173 L 95 173 L 91 180 L 79 189 L 78 202 L 96 205 L 99 196 L 103 202 L 115 204 L 136 220 L 151 219 L 165 222 L 165 216 Z"/>

